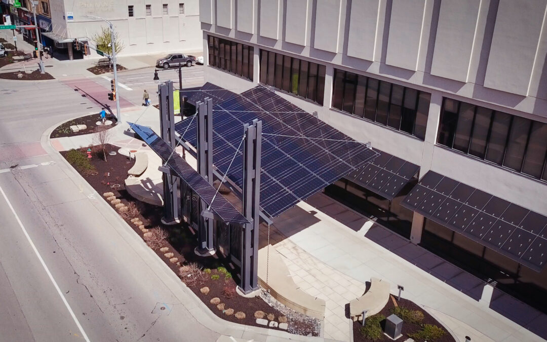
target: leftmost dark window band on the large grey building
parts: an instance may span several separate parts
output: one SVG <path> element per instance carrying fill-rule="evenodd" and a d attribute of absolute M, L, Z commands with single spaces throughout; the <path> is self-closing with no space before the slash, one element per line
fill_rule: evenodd
<path fill-rule="evenodd" d="M 213 36 L 207 39 L 210 66 L 253 80 L 253 47 Z"/>

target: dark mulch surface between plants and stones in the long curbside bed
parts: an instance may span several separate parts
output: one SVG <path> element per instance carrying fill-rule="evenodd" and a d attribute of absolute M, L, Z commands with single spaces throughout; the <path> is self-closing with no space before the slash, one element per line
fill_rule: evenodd
<path fill-rule="evenodd" d="M 82 149 L 82 152 L 87 148 Z M 117 151 L 119 147 L 107 144 L 107 151 Z M 61 152 L 61 155 L 66 158 L 68 151 Z M 264 302 L 260 297 L 245 298 L 241 297 L 234 290 L 237 286 L 236 280 L 232 277 L 225 277 L 224 274 L 219 273 L 217 270 L 218 267 L 223 266 L 231 275 L 237 278 L 237 274 L 234 272 L 233 265 L 223 258 L 220 252 L 217 252 L 216 255 L 212 257 L 200 257 L 194 253 L 194 248 L 197 246 L 197 234 L 193 229 L 189 228 L 186 223 L 177 224 L 177 225 L 164 225 L 161 223 L 160 219 L 162 217 L 163 208 L 158 206 L 153 206 L 146 204 L 144 202 L 136 201 L 129 195 L 125 189 L 124 179 L 127 178 L 127 171 L 131 169 L 135 161 L 133 159 L 129 160 L 124 155 L 107 155 L 107 162 L 102 160 L 102 152 L 93 152 L 93 158 L 90 162 L 95 166 L 96 171 L 91 173 L 82 173 L 85 180 L 99 193 L 112 192 L 114 196 L 121 200 L 121 203 L 128 205 L 130 202 L 135 202 L 141 211 L 141 215 L 138 216 L 140 221 L 147 229 L 152 229 L 160 227 L 167 231 L 169 237 L 169 252 L 174 254 L 174 257 L 178 259 L 178 262 L 182 265 L 187 263 L 198 263 L 204 269 L 211 269 L 211 273 L 206 275 L 205 280 L 202 283 L 199 283 L 195 286 L 189 286 L 191 291 L 193 291 L 197 297 L 199 297 L 207 307 L 214 312 L 218 317 L 223 318 L 223 320 L 246 324 L 249 326 L 265 327 L 257 324 L 254 318 L 255 311 L 264 311 L 267 314 L 274 314 L 275 321 L 278 320 L 278 317 L 285 316 L 281 314 L 280 311 L 272 308 L 269 304 Z M 103 197 L 104 199 L 104 197 Z M 104 199 L 106 200 L 106 199 Z M 110 203 L 109 203 L 110 204 Z M 112 204 L 110 204 L 112 205 Z M 125 219 L 127 224 L 135 230 L 135 233 L 143 237 L 142 231 L 136 227 L 135 224 L 131 222 L 131 218 Z M 162 259 L 171 270 L 178 275 L 179 265 L 176 263 L 171 263 L 168 258 L 164 256 L 159 249 L 154 251 L 160 259 Z M 213 280 L 211 276 L 218 275 L 218 280 Z M 208 294 L 203 294 L 200 292 L 200 288 L 208 287 L 210 292 Z M 231 292 L 226 295 L 225 291 Z M 234 309 L 234 313 L 237 311 L 242 311 L 245 313 L 245 318 L 240 320 L 235 317 L 235 315 L 225 315 L 223 311 L 217 309 L 217 306 L 211 304 L 210 300 L 214 297 L 221 299 L 221 302 L 225 304 L 225 309 Z M 266 318 L 266 317 L 264 317 Z M 304 321 L 294 321 L 288 317 L 289 330 L 298 332 L 301 335 L 315 335 L 317 336 L 316 329 L 313 327 L 313 324 Z M 270 329 L 282 330 L 279 328 L 269 327 Z"/>

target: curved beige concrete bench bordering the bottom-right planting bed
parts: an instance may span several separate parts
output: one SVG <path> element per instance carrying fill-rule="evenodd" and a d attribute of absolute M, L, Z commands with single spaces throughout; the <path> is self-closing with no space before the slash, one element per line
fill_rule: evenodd
<path fill-rule="evenodd" d="M 369 291 L 350 301 L 350 316 L 353 321 L 362 320 L 364 310 L 368 310 L 364 318 L 382 311 L 389 300 L 389 288 L 387 281 L 371 278 Z"/>

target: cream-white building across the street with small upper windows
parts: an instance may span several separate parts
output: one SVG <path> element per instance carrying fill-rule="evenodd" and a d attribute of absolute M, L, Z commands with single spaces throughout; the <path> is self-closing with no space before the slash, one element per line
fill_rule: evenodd
<path fill-rule="evenodd" d="M 28 15 L 32 14 L 30 0 L 22 0 L 21 4 L 24 8 L 13 8 L 13 1 L 9 4 L 17 25 L 33 24 Z M 54 48 L 58 57 L 97 57 L 95 51 L 85 45 L 93 47 L 93 36 L 108 24 L 88 15 L 100 16 L 113 23 L 124 44 L 120 55 L 184 53 L 202 49 L 198 0 L 40 0 L 37 21 L 40 31 L 45 33 L 42 34 L 43 44 Z M 78 39 L 78 43 L 74 39 Z"/>

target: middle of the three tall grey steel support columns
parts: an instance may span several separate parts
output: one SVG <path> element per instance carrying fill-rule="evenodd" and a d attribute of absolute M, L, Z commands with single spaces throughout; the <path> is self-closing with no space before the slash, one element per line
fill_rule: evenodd
<path fill-rule="evenodd" d="M 204 101 L 197 103 L 197 172 L 213 185 L 213 101 L 208 97 Z M 204 201 L 200 203 L 202 212 L 207 209 L 207 204 Z M 213 218 L 201 215 L 196 254 L 214 254 L 213 229 Z"/>

